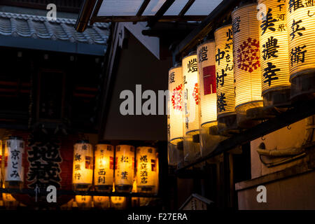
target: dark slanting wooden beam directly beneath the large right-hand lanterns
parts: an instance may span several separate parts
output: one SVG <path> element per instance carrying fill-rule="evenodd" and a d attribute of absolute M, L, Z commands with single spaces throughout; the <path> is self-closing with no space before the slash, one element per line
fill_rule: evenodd
<path fill-rule="evenodd" d="M 259 125 L 252 127 L 251 129 L 236 134 L 234 137 L 230 137 L 229 139 L 221 141 L 221 143 L 218 144 L 218 146 L 212 153 L 196 160 L 195 162 L 191 162 L 190 164 L 181 167 L 180 169 L 177 169 L 176 174 L 185 171 L 189 167 L 193 167 L 194 165 L 209 160 L 210 158 L 214 158 L 214 156 L 216 155 L 228 152 L 232 148 L 235 148 L 236 146 L 246 144 L 249 141 L 258 139 L 266 134 L 272 133 L 276 130 L 279 130 L 283 127 L 291 125 L 299 120 L 302 120 L 315 114 L 315 99 L 305 102 L 299 102 L 299 104 L 293 106 L 294 106 L 293 109 L 281 113 L 279 116 L 276 116 L 275 118 L 269 119 L 264 123 L 260 123 Z"/>

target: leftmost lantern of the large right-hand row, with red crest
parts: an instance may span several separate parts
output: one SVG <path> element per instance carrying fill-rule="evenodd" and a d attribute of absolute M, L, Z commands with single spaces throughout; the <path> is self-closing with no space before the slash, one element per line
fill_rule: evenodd
<path fill-rule="evenodd" d="M 169 141 L 183 141 L 183 69 L 169 69 Z"/>

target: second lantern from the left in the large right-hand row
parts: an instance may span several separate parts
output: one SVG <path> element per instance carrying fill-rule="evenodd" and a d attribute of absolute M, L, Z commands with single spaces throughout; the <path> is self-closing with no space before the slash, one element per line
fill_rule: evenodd
<path fill-rule="evenodd" d="M 199 85 L 197 54 L 183 58 L 184 125 L 186 134 L 199 134 Z"/>

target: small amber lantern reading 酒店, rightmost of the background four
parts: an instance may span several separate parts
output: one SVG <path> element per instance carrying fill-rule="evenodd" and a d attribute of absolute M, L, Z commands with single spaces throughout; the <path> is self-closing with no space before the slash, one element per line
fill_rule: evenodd
<path fill-rule="evenodd" d="M 137 148 L 137 192 L 157 193 L 158 152 L 156 148 L 141 146 Z"/>

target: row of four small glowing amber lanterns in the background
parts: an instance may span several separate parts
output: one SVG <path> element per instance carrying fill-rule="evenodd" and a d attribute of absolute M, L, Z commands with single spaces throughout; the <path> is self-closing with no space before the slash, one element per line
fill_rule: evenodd
<path fill-rule="evenodd" d="M 158 193 L 158 169 L 158 151 L 154 147 L 140 146 L 135 152 L 134 146 L 118 145 L 114 161 L 114 146 L 97 144 L 93 157 L 92 145 L 78 141 L 73 150 L 73 190 L 88 190 L 94 176 L 94 187 L 102 192 L 112 192 L 114 184 L 116 192 L 130 193 L 136 181 L 137 192 Z"/>

